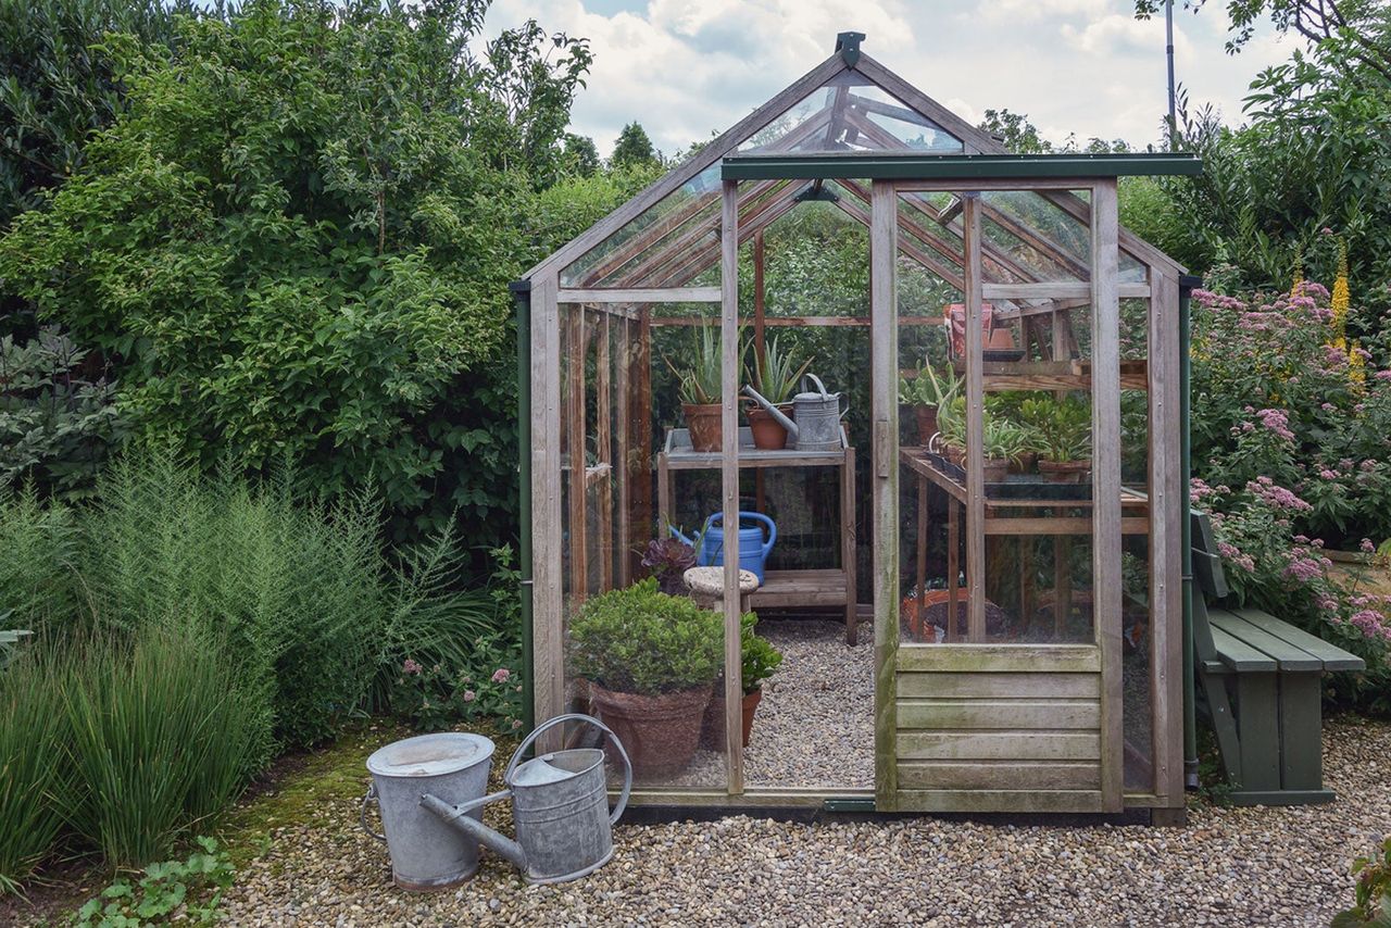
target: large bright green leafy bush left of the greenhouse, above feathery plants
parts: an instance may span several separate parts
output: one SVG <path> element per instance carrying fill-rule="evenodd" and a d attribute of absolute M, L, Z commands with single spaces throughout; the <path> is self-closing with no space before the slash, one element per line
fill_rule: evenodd
<path fill-rule="evenodd" d="M 213 470 L 294 455 L 380 487 L 398 536 L 513 511 L 506 282 L 573 228 L 561 175 L 583 42 L 487 3 L 257 0 L 107 43 L 128 107 L 0 241 L 0 278 L 121 378 L 143 442 Z"/>

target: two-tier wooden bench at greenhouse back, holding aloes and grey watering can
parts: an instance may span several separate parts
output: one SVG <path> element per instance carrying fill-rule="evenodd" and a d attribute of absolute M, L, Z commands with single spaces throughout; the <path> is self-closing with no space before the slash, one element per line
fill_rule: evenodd
<path fill-rule="evenodd" d="M 840 433 L 837 451 L 759 451 L 748 429 L 739 430 L 739 467 L 839 467 L 840 469 L 840 565 L 803 570 L 768 570 L 764 586 L 750 595 L 750 607 L 797 608 L 842 607 L 846 611 L 846 641 L 855 643 L 858 609 L 855 608 L 855 449 Z M 677 470 L 716 470 L 723 455 L 718 451 L 691 449 L 686 429 L 670 429 L 657 455 L 658 509 L 672 512 Z"/>

